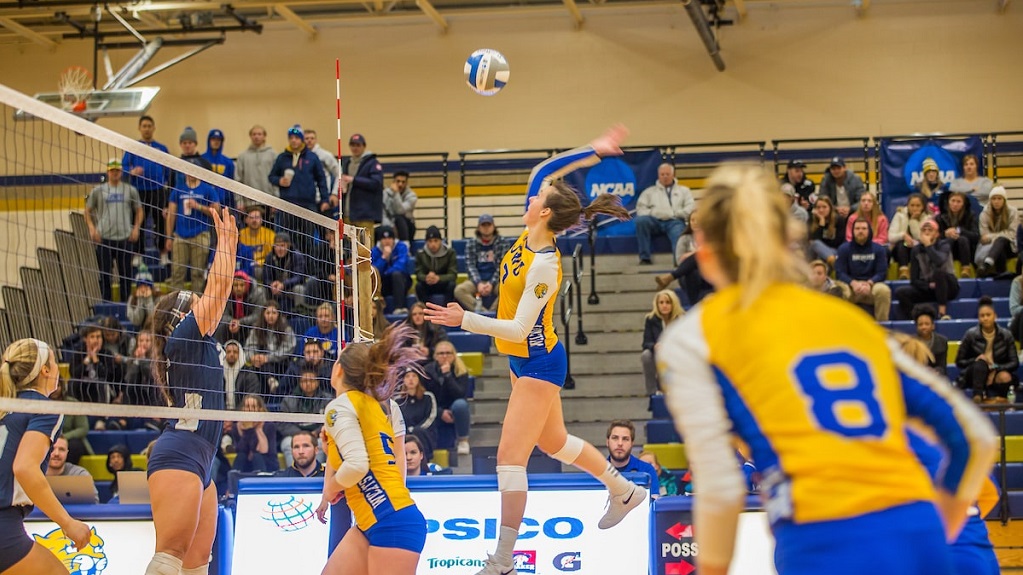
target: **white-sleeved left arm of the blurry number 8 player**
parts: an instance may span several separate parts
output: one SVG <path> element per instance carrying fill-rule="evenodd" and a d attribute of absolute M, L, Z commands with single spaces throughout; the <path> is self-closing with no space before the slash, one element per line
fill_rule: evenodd
<path fill-rule="evenodd" d="M 724 397 L 707 360 L 702 315 L 697 308 L 665 331 L 658 367 L 668 409 L 685 438 L 693 490 L 700 494 L 693 507 L 700 559 L 706 565 L 727 566 L 746 480 L 736 465 Z"/>

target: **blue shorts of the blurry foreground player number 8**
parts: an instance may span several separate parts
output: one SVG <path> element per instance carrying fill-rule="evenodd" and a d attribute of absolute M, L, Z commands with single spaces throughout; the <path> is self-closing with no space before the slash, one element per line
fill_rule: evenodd
<path fill-rule="evenodd" d="M 953 575 L 934 504 L 921 501 L 850 519 L 772 527 L 779 575 Z"/>

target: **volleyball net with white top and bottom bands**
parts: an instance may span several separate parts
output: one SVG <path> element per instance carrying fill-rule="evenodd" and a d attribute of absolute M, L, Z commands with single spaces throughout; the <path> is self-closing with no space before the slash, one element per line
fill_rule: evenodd
<path fill-rule="evenodd" d="M 301 161 L 270 170 L 272 193 L 261 191 L 221 175 L 230 160 L 208 150 L 205 134 L 194 146 L 171 140 L 188 133 L 181 128 L 161 126 L 174 134 L 167 153 L 0 85 L 0 347 L 46 342 L 64 396 L 77 400 L 0 400 L 0 410 L 87 414 L 129 429 L 175 417 L 322 419 L 281 410 L 303 399 L 325 405 L 340 349 L 372 339 L 371 238 L 339 224 L 329 212 L 338 203 Z M 239 228 L 214 335 L 233 412 L 182 412 L 152 379 L 153 308 L 174 291 L 203 293 L 222 248 L 210 218 L 218 206 Z M 250 395 L 270 412 L 234 411 Z"/>

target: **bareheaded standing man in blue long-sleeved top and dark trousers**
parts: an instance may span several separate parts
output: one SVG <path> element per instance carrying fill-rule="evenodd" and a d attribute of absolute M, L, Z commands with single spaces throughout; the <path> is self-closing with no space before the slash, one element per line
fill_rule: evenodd
<path fill-rule="evenodd" d="M 170 153 L 166 145 L 153 139 L 157 133 L 157 123 L 151 116 L 143 116 L 138 119 L 138 133 L 139 143 L 164 153 Z M 152 220 L 152 229 L 157 234 L 157 249 L 161 251 L 162 255 L 166 255 L 163 239 L 168 237 L 172 230 L 164 227 L 166 223 L 164 209 L 167 208 L 167 190 L 172 182 L 171 169 L 127 151 L 121 159 L 121 163 L 122 168 L 131 178 L 129 183 L 138 190 L 142 209 L 145 212 L 142 221 L 145 223 L 146 218 Z M 142 254 L 143 252 L 145 252 L 145 242 L 139 234 L 136 253 Z"/>

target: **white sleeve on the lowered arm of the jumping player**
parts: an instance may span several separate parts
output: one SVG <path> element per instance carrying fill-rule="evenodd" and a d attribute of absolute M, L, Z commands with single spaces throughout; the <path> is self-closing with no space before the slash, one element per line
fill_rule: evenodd
<path fill-rule="evenodd" d="M 461 328 L 509 342 L 523 342 L 557 289 L 558 255 L 553 252 L 537 254 L 526 272 L 526 288 L 514 318 L 496 319 L 466 311 L 461 319 Z M 541 295 L 536 297 L 537 294 Z"/>

